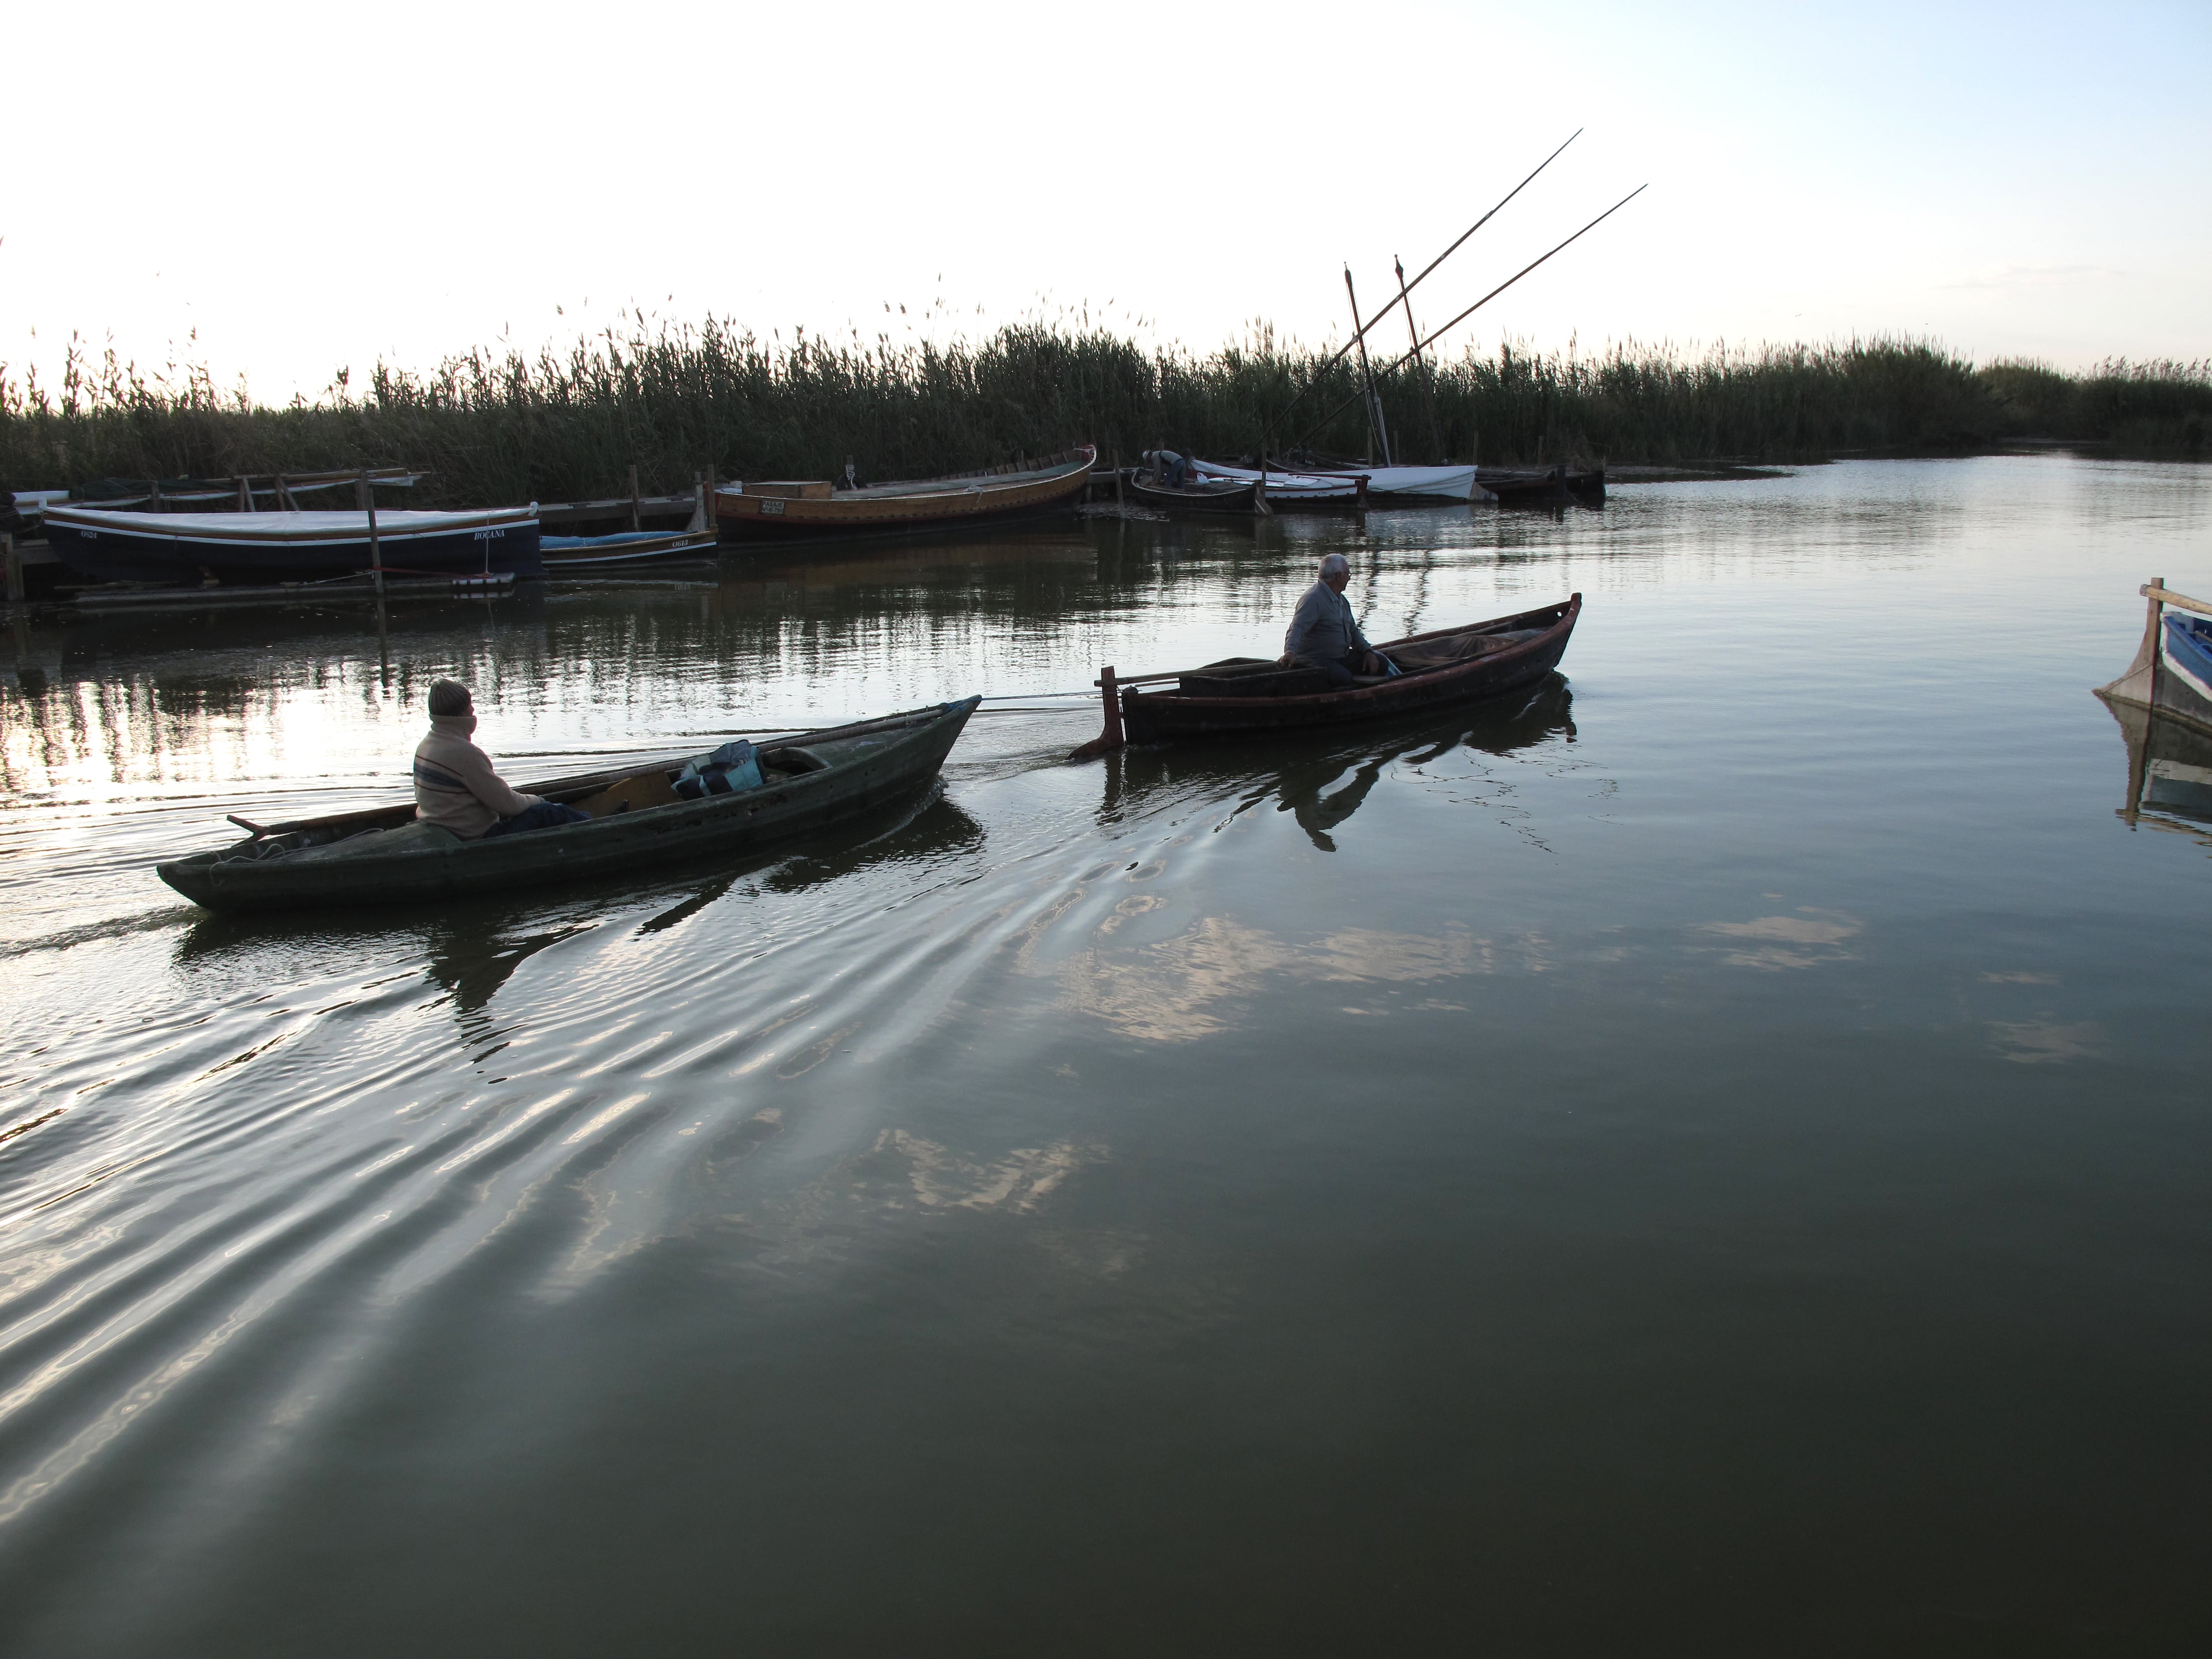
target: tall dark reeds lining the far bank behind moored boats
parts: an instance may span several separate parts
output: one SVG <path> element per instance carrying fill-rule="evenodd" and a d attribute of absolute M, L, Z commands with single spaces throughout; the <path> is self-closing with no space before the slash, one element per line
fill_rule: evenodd
<path fill-rule="evenodd" d="M 1371 336 L 1374 338 L 1374 336 Z M 1152 447 L 1210 458 L 1303 442 L 1369 453 L 1358 365 L 1281 347 L 1267 327 L 1206 354 L 1146 349 L 1097 330 L 1018 323 L 980 343 L 768 341 L 734 323 L 635 316 L 566 354 L 473 349 L 436 369 L 378 363 L 365 392 L 341 372 L 285 407 L 221 392 L 204 367 L 146 376 L 71 345 L 49 392 L 0 365 L 0 480 L 102 480 L 418 467 L 416 504 L 495 507 L 719 478 L 927 478 L 1095 442 L 1124 462 Z M 1933 341 L 1767 345 L 1686 356 L 1464 349 L 1378 378 L 1405 460 L 1613 467 L 1820 462 L 1854 453 L 1971 453 L 2017 442 L 2201 458 L 2212 361 L 2106 361 L 2084 374 L 1975 365 Z M 1298 398 L 1305 392 L 1307 396 Z M 1296 405 L 1292 403 L 1294 398 Z M 1325 427 L 1307 431 L 1332 409 Z"/>

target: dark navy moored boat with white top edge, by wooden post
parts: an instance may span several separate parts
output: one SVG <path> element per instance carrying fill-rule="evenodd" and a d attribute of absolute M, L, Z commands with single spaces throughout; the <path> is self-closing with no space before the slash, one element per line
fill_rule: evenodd
<path fill-rule="evenodd" d="M 542 575 L 529 507 L 476 513 L 115 513 L 51 502 L 55 557 L 100 582 L 283 582 L 356 575 Z"/>

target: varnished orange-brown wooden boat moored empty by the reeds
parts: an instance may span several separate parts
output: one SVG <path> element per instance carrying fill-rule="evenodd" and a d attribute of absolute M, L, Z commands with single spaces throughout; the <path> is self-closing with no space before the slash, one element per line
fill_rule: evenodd
<path fill-rule="evenodd" d="M 1084 445 L 1046 460 L 900 484 L 739 484 L 714 493 L 714 524 L 726 542 L 830 542 L 960 531 L 1073 509 L 1091 487 L 1095 462 L 1097 449 Z"/>

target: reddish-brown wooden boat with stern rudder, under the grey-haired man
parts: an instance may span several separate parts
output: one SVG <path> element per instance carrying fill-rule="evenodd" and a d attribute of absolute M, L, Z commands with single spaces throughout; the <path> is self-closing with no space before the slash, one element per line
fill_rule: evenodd
<path fill-rule="evenodd" d="M 1115 686 L 1106 737 L 1117 734 L 1115 726 L 1130 743 L 1274 732 L 1502 697 L 1559 666 L 1579 615 L 1582 595 L 1575 593 L 1540 611 L 1394 639 L 1376 650 L 1402 672 L 1394 679 L 1363 677 L 1343 690 L 1329 690 L 1329 677 L 1318 668 L 1281 668 L 1256 657 L 1159 675 L 1175 679 L 1172 690 L 1139 690 L 1141 681 Z M 1102 745 L 1110 748 L 1106 739 Z M 1086 750 L 1097 752 L 1093 745 Z"/>

